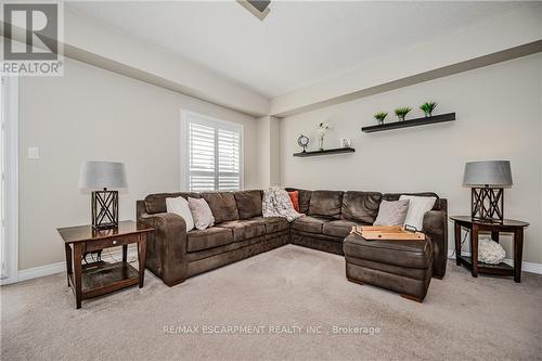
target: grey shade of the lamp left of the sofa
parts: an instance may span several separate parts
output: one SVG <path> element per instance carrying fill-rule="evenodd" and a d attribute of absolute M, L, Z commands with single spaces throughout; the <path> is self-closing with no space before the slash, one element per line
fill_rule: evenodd
<path fill-rule="evenodd" d="M 79 188 L 82 190 L 119 190 L 128 188 L 124 163 L 85 162 L 79 173 Z"/>

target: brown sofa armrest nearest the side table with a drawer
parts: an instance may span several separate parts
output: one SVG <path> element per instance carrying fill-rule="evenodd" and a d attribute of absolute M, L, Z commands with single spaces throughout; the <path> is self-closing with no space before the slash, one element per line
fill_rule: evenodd
<path fill-rule="evenodd" d="M 142 214 L 138 221 L 154 228 L 147 236 L 146 268 L 165 284 L 173 286 L 186 279 L 186 222 L 168 212 Z"/>

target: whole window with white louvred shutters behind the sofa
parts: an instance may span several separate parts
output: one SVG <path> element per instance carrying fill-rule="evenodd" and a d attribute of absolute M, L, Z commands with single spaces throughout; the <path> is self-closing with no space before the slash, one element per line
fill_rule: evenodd
<path fill-rule="evenodd" d="M 243 126 L 181 113 L 181 179 L 191 192 L 243 188 Z"/>

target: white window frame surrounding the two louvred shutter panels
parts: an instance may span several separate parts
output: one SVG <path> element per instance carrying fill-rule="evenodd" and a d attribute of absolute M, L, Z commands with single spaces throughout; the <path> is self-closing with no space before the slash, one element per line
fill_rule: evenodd
<path fill-rule="evenodd" d="M 193 117 L 193 119 L 190 119 Z M 245 183 L 245 167 L 244 167 L 244 126 L 240 123 L 228 121 L 219 119 L 216 117 L 208 116 L 206 114 L 196 113 L 192 111 L 181 109 L 181 127 L 180 127 L 180 155 L 181 155 L 181 191 L 191 192 L 190 190 L 190 141 L 189 141 L 189 124 L 194 123 L 205 127 L 212 127 L 215 129 L 215 192 L 219 192 L 217 189 L 218 177 L 219 177 L 219 159 L 218 159 L 218 132 L 217 129 L 223 129 L 229 131 L 238 131 L 240 133 L 240 191 L 244 189 Z"/>

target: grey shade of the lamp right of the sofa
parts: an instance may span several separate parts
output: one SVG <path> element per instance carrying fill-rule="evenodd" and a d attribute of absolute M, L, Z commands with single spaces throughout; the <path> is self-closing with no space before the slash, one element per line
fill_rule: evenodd
<path fill-rule="evenodd" d="M 512 186 L 512 170 L 508 160 L 468 162 L 463 175 L 465 186 Z"/>

